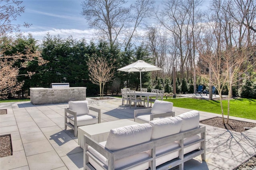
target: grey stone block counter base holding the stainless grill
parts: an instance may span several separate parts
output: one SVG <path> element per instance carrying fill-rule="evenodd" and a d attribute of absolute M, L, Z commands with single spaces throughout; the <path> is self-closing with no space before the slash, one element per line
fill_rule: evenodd
<path fill-rule="evenodd" d="M 30 102 L 33 105 L 68 103 L 68 101 L 78 100 L 86 100 L 86 87 L 30 88 Z"/>

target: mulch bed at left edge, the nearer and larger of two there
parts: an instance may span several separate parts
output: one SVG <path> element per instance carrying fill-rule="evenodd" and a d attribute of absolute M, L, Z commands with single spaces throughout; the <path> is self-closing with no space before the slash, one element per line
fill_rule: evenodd
<path fill-rule="evenodd" d="M 11 135 L 0 136 L 0 158 L 12 155 Z"/>

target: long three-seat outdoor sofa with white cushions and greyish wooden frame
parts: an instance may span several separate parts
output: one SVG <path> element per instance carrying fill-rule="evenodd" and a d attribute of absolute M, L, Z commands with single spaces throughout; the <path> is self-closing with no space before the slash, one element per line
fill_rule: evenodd
<path fill-rule="evenodd" d="M 111 129 L 107 141 L 84 135 L 84 169 L 170 169 L 201 155 L 205 160 L 205 127 L 199 112 Z"/>

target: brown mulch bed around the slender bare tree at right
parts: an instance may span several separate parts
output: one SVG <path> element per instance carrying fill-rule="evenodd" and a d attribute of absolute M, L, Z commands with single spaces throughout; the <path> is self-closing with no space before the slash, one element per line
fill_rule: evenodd
<path fill-rule="evenodd" d="M 225 122 L 226 122 L 226 119 L 225 119 Z M 200 123 L 202 123 L 204 125 L 210 125 L 213 127 L 224 128 L 224 129 L 232 130 L 232 131 L 236 131 L 236 132 L 244 132 L 245 127 L 246 128 L 256 127 L 256 123 L 236 121 L 236 120 L 232 120 L 232 119 L 229 119 L 228 124 L 223 124 L 222 117 L 214 117 L 211 119 L 206 119 L 206 120 L 200 121 Z"/>

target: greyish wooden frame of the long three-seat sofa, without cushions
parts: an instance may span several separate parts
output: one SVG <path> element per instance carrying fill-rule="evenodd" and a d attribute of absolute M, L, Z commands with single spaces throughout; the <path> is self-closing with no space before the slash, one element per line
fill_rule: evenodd
<path fill-rule="evenodd" d="M 190 136 L 194 136 L 196 134 L 200 134 L 200 139 L 195 140 L 193 142 L 190 142 L 186 145 L 184 145 L 184 138 L 188 138 Z M 144 142 L 142 144 L 138 144 L 135 146 L 130 146 L 127 148 L 123 148 L 116 151 L 108 150 L 107 148 L 104 148 L 101 144 L 90 138 L 89 136 L 84 135 L 84 170 L 95 170 L 95 168 L 89 163 L 88 158 L 90 157 L 92 160 L 97 162 L 97 158 L 95 158 L 90 152 L 88 152 L 88 145 L 97 150 L 100 154 L 102 154 L 104 157 L 108 159 L 108 166 L 101 166 L 105 170 L 114 170 L 114 161 L 119 160 L 128 156 L 132 156 L 134 154 L 138 154 L 140 152 L 145 152 L 147 150 L 151 150 L 151 157 L 146 158 L 144 160 L 140 160 L 136 163 L 129 164 L 125 167 L 122 167 L 122 170 L 128 170 L 133 167 L 136 167 L 140 164 L 143 164 L 145 162 L 150 162 L 150 170 L 168 170 L 172 167 L 179 166 L 179 170 L 184 169 L 184 162 L 201 155 L 202 160 L 205 160 L 205 154 L 206 154 L 206 146 L 205 146 L 205 138 L 206 138 L 206 128 L 204 126 L 200 126 L 198 128 L 194 128 L 191 130 L 186 130 L 184 132 L 179 132 L 177 134 L 172 134 L 170 136 L 165 136 L 159 139 L 150 140 L 148 142 Z M 172 143 L 175 141 L 179 142 L 179 147 L 168 150 L 164 153 L 156 155 L 156 147 L 162 146 L 168 143 Z M 194 150 L 192 152 L 189 152 L 187 154 L 184 153 L 184 148 L 192 146 L 193 144 L 200 142 L 200 150 Z M 162 156 L 165 156 L 167 154 L 173 153 L 179 151 L 178 158 L 174 158 L 173 160 L 170 160 L 168 162 L 165 162 L 164 164 L 161 164 L 156 167 L 156 158 L 160 158 Z"/>

